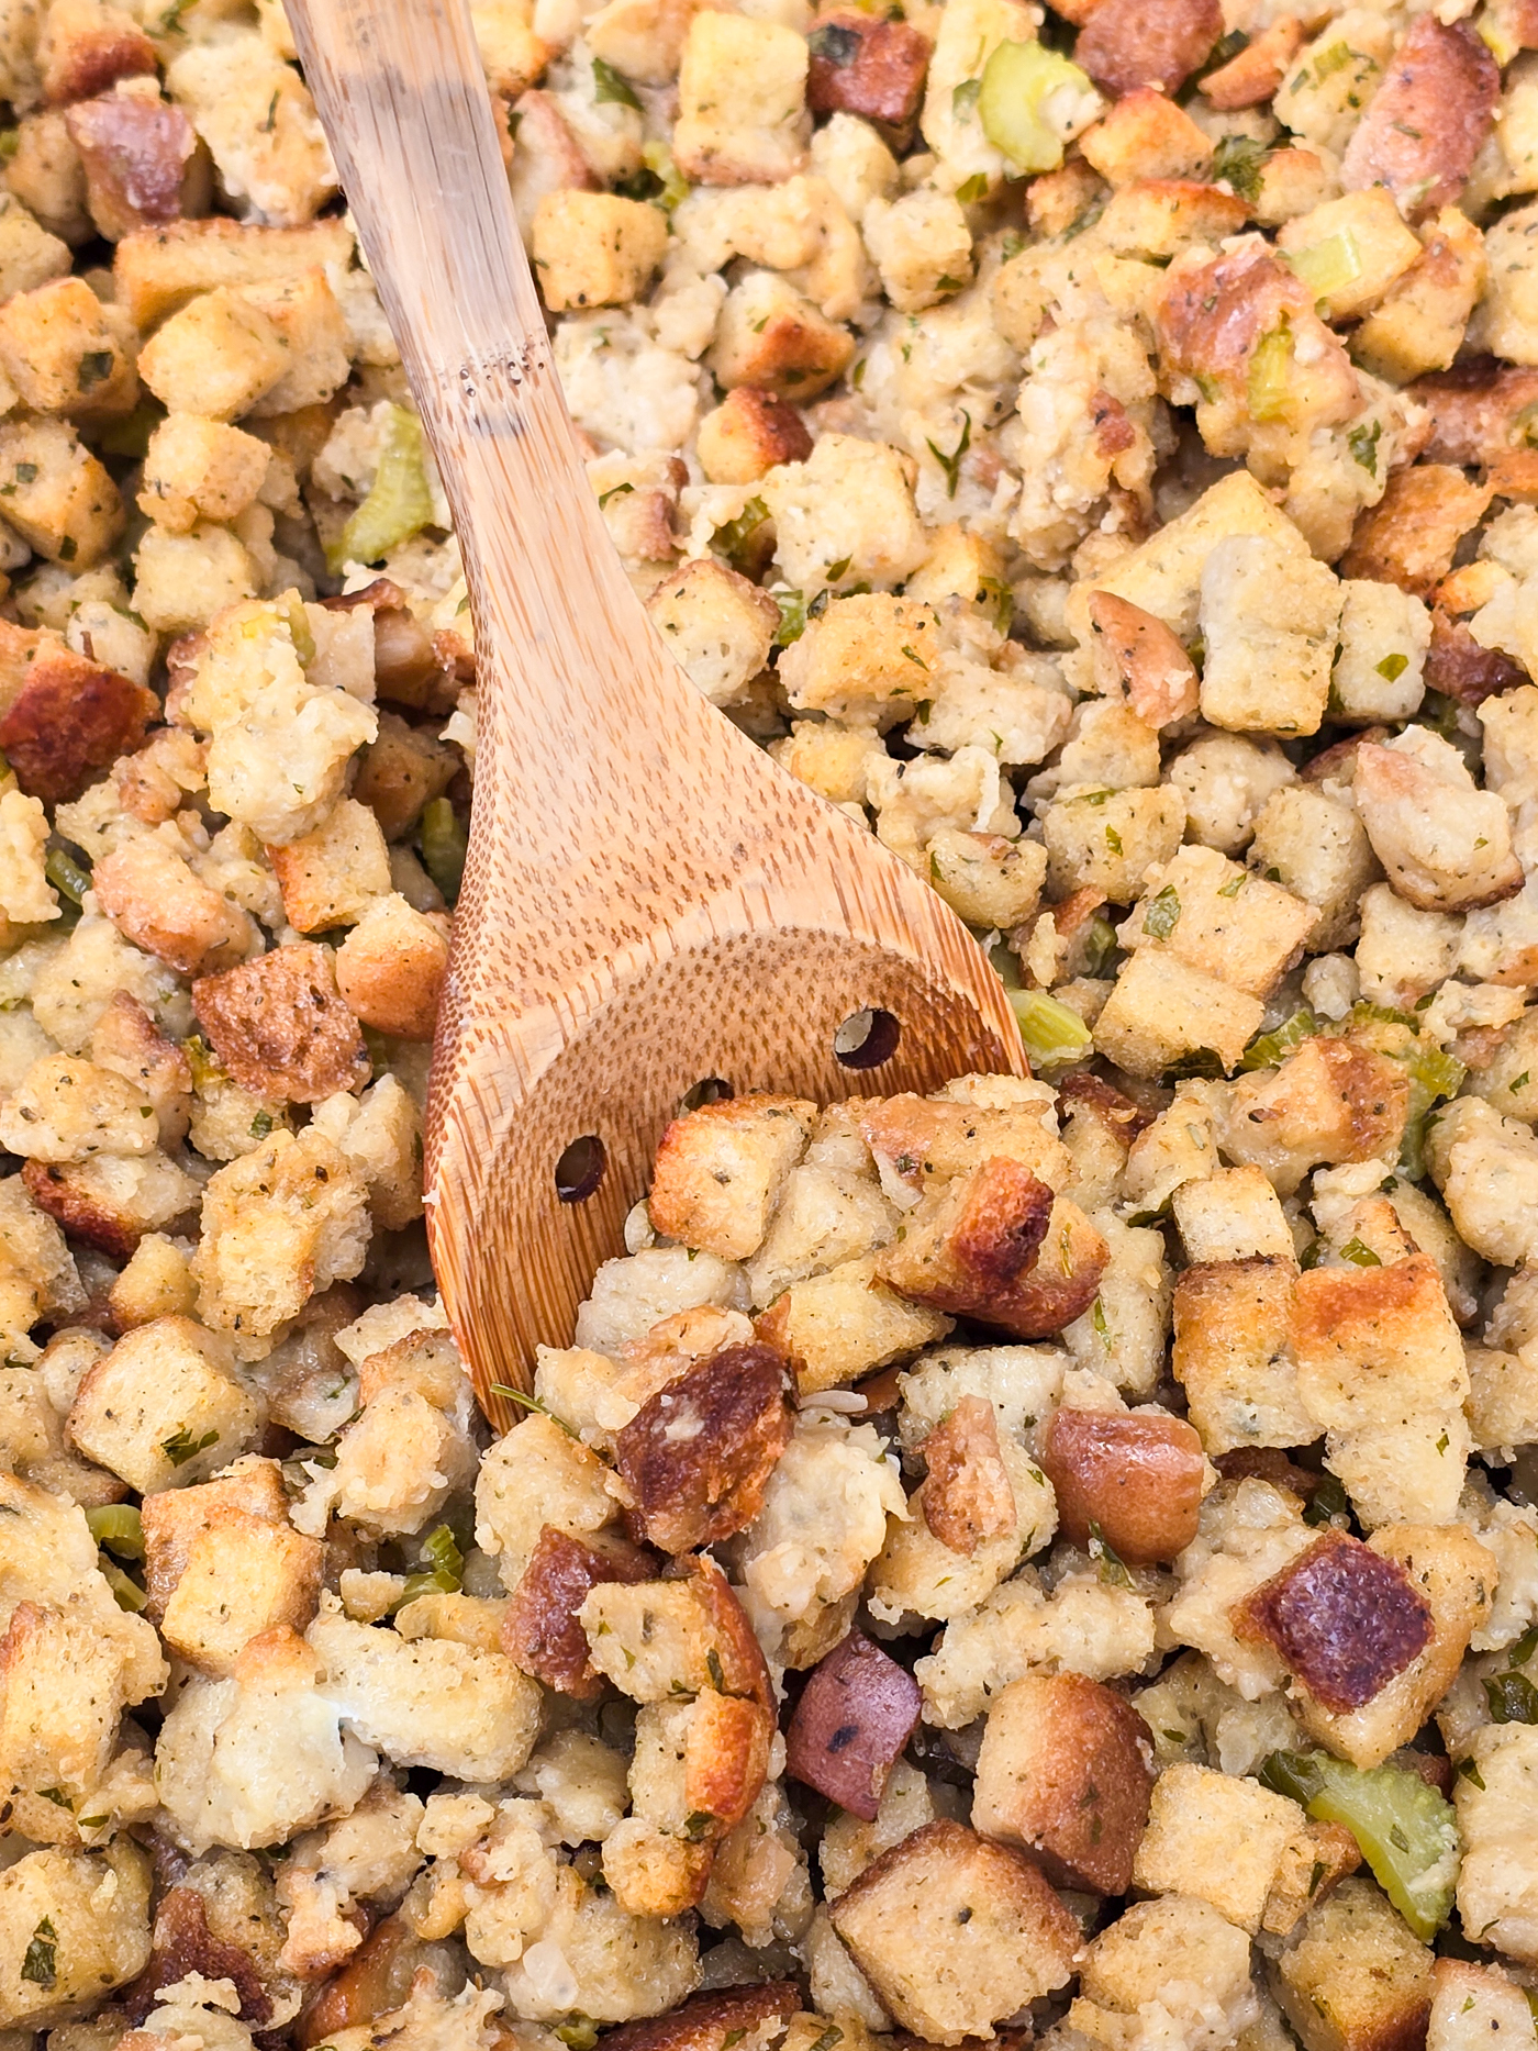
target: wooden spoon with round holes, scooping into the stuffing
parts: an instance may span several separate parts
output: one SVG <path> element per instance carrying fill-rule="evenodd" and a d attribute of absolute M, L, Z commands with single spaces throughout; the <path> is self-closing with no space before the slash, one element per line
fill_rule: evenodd
<path fill-rule="evenodd" d="M 693 1085 L 831 1099 L 1027 1071 L 960 919 L 716 712 L 642 611 L 572 441 L 463 0 L 287 4 L 470 582 L 476 802 L 427 1222 L 504 1430 L 494 1386 L 527 1391 L 535 1345 L 570 1343 Z M 865 1011 L 847 1067 L 835 1036 Z"/>

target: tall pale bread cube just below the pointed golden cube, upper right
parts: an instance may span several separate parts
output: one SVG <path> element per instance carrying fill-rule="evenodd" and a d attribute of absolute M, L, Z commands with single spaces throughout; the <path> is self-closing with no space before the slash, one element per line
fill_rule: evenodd
<path fill-rule="evenodd" d="M 1230 535 L 1202 570 L 1202 718 L 1237 732 L 1317 734 L 1341 587 L 1323 562 Z"/>

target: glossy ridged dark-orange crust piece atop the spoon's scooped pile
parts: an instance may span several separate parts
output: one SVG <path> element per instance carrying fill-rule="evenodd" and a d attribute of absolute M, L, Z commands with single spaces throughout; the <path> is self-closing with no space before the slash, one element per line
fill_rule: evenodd
<path fill-rule="evenodd" d="M 974 1317 L 1017 1339 L 1062 1331 L 1095 1300 L 1107 1247 L 1066 1198 L 1019 1161 L 984 1161 L 931 1190 L 904 1237 L 876 1257 L 900 1296 Z"/>

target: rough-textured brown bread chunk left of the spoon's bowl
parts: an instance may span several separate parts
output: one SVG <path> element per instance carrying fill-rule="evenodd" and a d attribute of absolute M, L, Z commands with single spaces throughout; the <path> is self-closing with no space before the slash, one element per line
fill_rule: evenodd
<path fill-rule="evenodd" d="M 369 1050 L 326 948 L 299 941 L 193 984 L 213 1052 L 258 1097 L 318 1103 L 369 1079 Z"/>

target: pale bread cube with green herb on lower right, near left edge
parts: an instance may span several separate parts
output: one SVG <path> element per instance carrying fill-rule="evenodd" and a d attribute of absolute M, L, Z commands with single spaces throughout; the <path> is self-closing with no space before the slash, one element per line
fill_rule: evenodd
<path fill-rule="evenodd" d="M 129 1331 L 86 1370 L 70 1407 L 74 1444 L 141 1493 L 207 1481 L 260 1423 L 226 1341 L 191 1317 Z"/>

